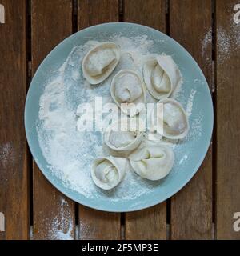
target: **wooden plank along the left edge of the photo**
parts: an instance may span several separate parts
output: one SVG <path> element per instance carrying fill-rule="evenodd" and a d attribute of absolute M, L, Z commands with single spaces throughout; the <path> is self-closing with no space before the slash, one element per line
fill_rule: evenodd
<path fill-rule="evenodd" d="M 0 24 L 0 212 L 2 239 L 29 238 L 27 147 L 23 123 L 26 98 L 26 1 L 2 0 Z"/>

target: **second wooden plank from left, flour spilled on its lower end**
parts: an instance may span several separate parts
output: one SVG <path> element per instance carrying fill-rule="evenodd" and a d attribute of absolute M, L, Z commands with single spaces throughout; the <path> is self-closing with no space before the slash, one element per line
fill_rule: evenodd
<path fill-rule="evenodd" d="M 54 46 L 72 33 L 71 0 L 33 0 L 32 73 Z M 34 164 L 34 239 L 74 238 L 74 202 L 46 181 Z"/>

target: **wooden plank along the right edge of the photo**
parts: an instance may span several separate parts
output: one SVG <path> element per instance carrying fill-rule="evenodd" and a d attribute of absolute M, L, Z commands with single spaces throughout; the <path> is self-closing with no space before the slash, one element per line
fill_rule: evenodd
<path fill-rule="evenodd" d="M 216 1 L 217 52 L 217 202 L 218 239 L 240 239 L 240 24 L 237 0 Z M 240 8 L 238 7 L 238 11 Z M 236 214 L 237 215 L 237 214 Z M 238 221 L 238 222 L 237 222 Z"/>

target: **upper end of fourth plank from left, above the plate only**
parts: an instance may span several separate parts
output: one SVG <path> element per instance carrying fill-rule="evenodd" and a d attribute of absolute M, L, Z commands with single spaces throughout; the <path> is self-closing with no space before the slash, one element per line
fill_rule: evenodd
<path fill-rule="evenodd" d="M 165 32 L 165 0 L 125 0 L 124 21 Z"/>

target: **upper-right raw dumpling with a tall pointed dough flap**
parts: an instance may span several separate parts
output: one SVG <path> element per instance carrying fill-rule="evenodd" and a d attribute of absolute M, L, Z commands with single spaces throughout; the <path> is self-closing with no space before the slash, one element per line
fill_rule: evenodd
<path fill-rule="evenodd" d="M 143 78 L 147 90 L 157 99 L 168 98 L 182 82 L 182 75 L 174 60 L 168 55 L 158 55 L 143 66 Z"/>

